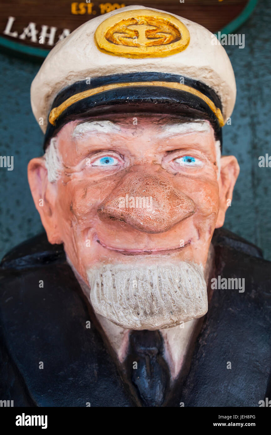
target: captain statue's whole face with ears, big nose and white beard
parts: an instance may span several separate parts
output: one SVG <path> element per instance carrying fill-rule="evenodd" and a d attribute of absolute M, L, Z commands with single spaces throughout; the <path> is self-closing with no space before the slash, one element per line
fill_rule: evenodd
<path fill-rule="evenodd" d="M 206 313 L 203 271 L 238 171 L 207 121 L 127 114 L 66 124 L 29 182 L 94 310 L 157 329 Z"/>

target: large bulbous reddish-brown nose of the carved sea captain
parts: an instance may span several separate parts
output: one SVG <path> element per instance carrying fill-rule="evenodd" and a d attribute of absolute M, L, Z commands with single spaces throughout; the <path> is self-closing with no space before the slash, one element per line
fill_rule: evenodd
<path fill-rule="evenodd" d="M 156 174 L 127 173 L 100 204 L 101 219 L 124 221 L 147 233 L 163 233 L 195 213 L 194 201 Z"/>

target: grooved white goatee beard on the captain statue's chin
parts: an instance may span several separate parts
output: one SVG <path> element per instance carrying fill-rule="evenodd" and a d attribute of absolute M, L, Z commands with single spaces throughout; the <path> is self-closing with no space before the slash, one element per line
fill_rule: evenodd
<path fill-rule="evenodd" d="M 203 268 L 196 264 L 107 264 L 87 277 L 94 311 L 122 328 L 170 328 L 208 309 Z"/>

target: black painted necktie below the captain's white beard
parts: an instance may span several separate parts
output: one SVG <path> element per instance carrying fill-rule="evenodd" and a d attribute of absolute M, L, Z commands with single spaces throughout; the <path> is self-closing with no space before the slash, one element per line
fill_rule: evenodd
<path fill-rule="evenodd" d="M 170 383 L 161 334 L 159 331 L 131 331 L 129 341 L 128 376 L 143 406 L 161 406 Z"/>

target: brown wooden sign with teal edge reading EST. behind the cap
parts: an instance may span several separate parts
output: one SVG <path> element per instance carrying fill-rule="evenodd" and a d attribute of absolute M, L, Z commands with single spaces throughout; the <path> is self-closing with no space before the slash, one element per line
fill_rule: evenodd
<path fill-rule="evenodd" d="M 233 33 L 253 11 L 257 0 L 140 0 L 153 7 L 195 21 L 211 32 Z M 7 50 L 46 57 L 54 45 L 85 21 L 124 6 L 96 0 L 13 0 L 0 3 L 0 45 Z"/>

